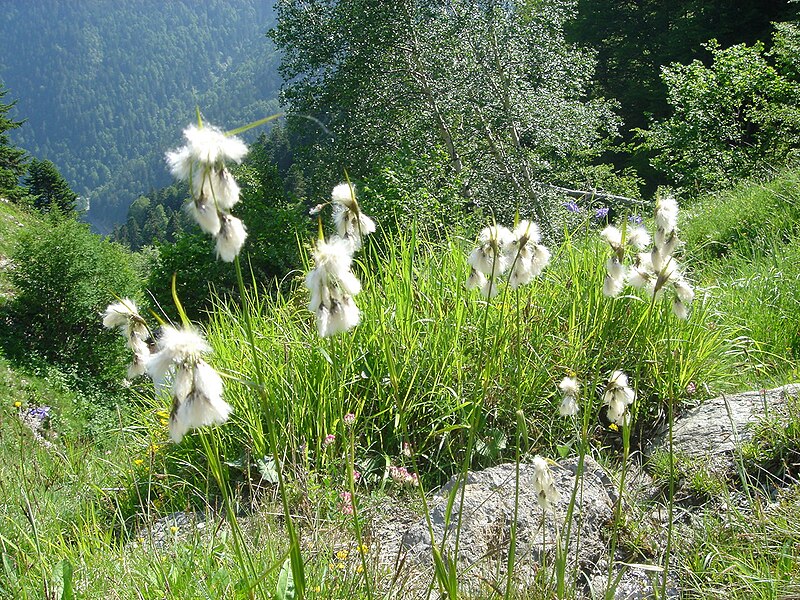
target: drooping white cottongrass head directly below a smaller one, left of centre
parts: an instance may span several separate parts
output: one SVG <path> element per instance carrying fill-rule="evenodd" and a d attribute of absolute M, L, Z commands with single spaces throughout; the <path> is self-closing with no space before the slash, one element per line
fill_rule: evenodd
<path fill-rule="evenodd" d="M 306 275 L 311 292 L 308 309 L 317 316 L 317 331 L 329 337 L 352 329 L 361 320 L 353 297 L 361 283 L 350 272 L 352 245 L 341 238 L 319 240 L 313 251 L 314 269 Z"/>

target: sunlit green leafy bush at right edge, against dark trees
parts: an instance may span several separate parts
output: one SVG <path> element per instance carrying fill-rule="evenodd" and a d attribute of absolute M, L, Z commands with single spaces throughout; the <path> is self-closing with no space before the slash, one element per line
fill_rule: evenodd
<path fill-rule="evenodd" d="M 800 49 L 788 41 L 775 49 L 778 65 Z M 707 48 L 710 67 L 664 69 L 672 114 L 642 132 L 653 165 L 690 191 L 770 174 L 800 147 L 800 82 L 771 65 L 760 43 Z"/>

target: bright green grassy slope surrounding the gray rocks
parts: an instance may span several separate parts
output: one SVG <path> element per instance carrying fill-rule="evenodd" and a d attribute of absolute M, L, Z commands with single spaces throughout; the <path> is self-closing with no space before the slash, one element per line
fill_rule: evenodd
<path fill-rule="evenodd" d="M 351 490 L 365 512 L 387 496 L 413 505 L 417 489 L 393 487 L 390 466 L 431 489 L 462 464 L 518 460 L 519 435 L 524 459 L 583 447 L 619 474 L 627 432 L 602 419 L 609 371 L 625 370 L 636 386 L 634 445 L 663 427 L 670 407 L 798 377 L 799 188 L 789 174 L 685 207 L 680 256 L 697 291 L 687 321 L 668 298 L 602 294 L 609 249 L 589 222 L 551 248 L 540 279 L 491 301 L 464 287 L 472 235 L 431 242 L 413 227 L 383 239 L 379 232 L 356 259 L 362 320 L 353 333 L 317 336 L 301 274 L 284 293 L 216 304 L 204 333 L 234 412 L 180 444 L 168 441 L 169 398 L 149 383 L 134 382 L 126 410 L 92 412 L 102 398 L 75 391 L 82 382 L 44 366 L 22 373 L 0 359 L 0 386 L 10 393 L 0 406 L 0 596 L 63 598 L 59 590 L 71 586 L 86 598 L 280 597 L 289 540 L 275 517 L 282 507 L 270 426 L 301 524 L 311 598 L 369 598 L 391 580 L 358 562 L 356 521 L 342 500 Z M 12 212 L 0 213 L 4 223 Z M 0 229 L 0 248 L 14 227 Z M 557 384 L 573 373 L 584 390 L 577 423 L 556 416 Z M 42 427 L 26 424 L 43 406 Z M 348 413 L 354 421 L 345 426 Z M 800 414 L 791 419 L 776 438 L 778 454 L 798 441 Z M 759 443 L 774 458 L 770 435 Z M 709 506 L 727 512 L 686 509 L 696 517 L 673 549 L 686 597 L 775 599 L 800 590 L 800 492 L 785 483 L 777 492 L 748 488 L 755 500 L 733 509 L 740 484 L 714 482 L 707 490 L 721 504 Z M 666 514 L 666 496 L 650 502 Z M 627 560 L 661 564 L 648 536 L 663 533 L 663 523 L 650 530 L 626 519 L 617 515 L 608 534 L 619 536 Z M 542 580 L 513 597 L 554 597 L 552 586 Z M 501 595 L 487 586 L 486 597 Z"/>

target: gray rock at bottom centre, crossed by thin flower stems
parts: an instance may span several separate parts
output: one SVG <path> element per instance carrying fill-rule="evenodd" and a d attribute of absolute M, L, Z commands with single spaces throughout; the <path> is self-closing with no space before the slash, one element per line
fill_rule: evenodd
<path fill-rule="evenodd" d="M 561 494 L 554 510 L 541 509 L 532 488 L 533 467 L 520 465 L 520 495 L 517 517 L 517 551 L 515 555 L 515 585 L 524 587 L 534 581 L 542 564 L 552 567 L 555 559 L 556 532 L 566 535 L 565 522 L 570 497 L 575 489 L 577 459 L 569 459 L 551 467 L 555 485 Z M 450 522 L 445 528 L 447 498 L 456 485 L 450 481 L 432 500 L 430 518 L 433 534 L 442 554 L 455 554 L 461 486 L 456 492 Z M 464 488 L 464 504 L 458 546 L 458 572 L 464 574 L 462 586 L 466 593 L 485 591 L 486 583 L 496 589 L 505 587 L 511 522 L 514 515 L 515 467 L 501 465 L 480 472 L 470 472 Z M 577 569 L 579 593 L 598 593 L 607 582 L 608 557 L 606 530 L 612 519 L 617 489 L 603 468 L 590 457 L 584 463 L 582 485 L 579 488 L 572 515 L 568 550 L 568 573 L 575 580 Z M 447 535 L 445 536 L 445 530 Z M 429 573 L 433 564 L 431 537 L 427 521 L 414 523 L 402 538 L 402 548 L 411 562 Z M 616 576 L 616 574 L 615 574 Z M 568 575 L 568 584 L 570 576 Z M 652 590 L 645 572 L 625 569 L 618 586 L 617 598 L 645 598 Z M 482 587 L 483 586 L 483 587 Z M 598 586 L 601 586 L 598 589 Z"/>

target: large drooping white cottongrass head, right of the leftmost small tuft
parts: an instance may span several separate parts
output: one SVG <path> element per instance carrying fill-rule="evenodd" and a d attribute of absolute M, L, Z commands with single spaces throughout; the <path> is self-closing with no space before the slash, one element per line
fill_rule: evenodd
<path fill-rule="evenodd" d="M 156 391 L 171 382 L 169 432 L 172 440 L 179 443 L 190 429 L 224 423 L 232 408 L 222 399 L 222 378 L 202 358 L 211 352 L 203 337 L 188 327 L 177 329 L 166 325 L 156 349 L 147 361 L 147 373 Z"/>

